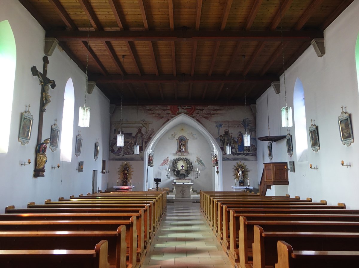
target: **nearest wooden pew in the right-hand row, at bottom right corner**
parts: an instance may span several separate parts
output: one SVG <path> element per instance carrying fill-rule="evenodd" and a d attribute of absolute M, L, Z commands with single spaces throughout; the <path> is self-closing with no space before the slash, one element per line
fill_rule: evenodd
<path fill-rule="evenodd" d="M 356 267 L 358 251 L 293 250 L 285 241 L 278 241 L 278 263 L 275 268 L 338 268 Z"/>

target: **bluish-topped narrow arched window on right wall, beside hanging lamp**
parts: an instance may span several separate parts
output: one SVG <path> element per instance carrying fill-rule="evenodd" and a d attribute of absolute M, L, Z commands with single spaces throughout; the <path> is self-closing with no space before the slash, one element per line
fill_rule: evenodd
<path fill-rule="evenodd" d="M 304 89 L 299 78 L 294 84 L 293 110 L 295 125 L 295 147 L 297 150 L 297 162 L 306 161 L 308 139 L 306 124 L 306 101 L 304 99 Z"/>

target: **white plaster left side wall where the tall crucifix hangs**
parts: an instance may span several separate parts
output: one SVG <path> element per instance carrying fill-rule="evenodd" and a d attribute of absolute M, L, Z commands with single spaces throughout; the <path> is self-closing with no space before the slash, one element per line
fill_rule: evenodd
<path fill-rule="evenodd" d="M 93 170 L 98 171 L 98 187 L 104 189 L 107 185 L 108 175 L 99 172 L 101 171 L 101 160 L 108 159 L 109 100 L 95 87 L 93 93 L 87 97 L 87 104 L 91 107 L 90 127 L 79 128 L 78 107 L 84 104 L 85 74 L 65 52 L 57 48 L 49 57 L 47 76 L 55 80 L 56 87 L 50 90 L 51 103 L 47 106 L 44 115 L 43 139 L 50 137 L 51 125 L 55 118 L 57 118 L 57 124 L 61 129 L 65 85 L 71 77 L 75 90 L 73 157 L 71 162 L 60 162 L 60 148 L 55 152 L 51 152 L 48 148 L 45 177 L 32 177 L 37 145 L 41 87 L 37 77 L 32 76 L 30 68 L 35 65 L 42 72 L 45 31 L 18 1 L 1 0 L 0 20 L 9 20 L 17 46 L 9 151 L 7 154 L 0 154 L 2 172 L 0 212 L 8 205 L 26 207 L 27 203 L 31 201 L 43 204 L 47 198 L 57 200 L 60 196 L 68 198 L 70 195 L 90 192 Z M 20 118 L 21 113 L 26 109 L 25 105 L 28 104 L 31 105 L 30 111 L 34 116 L 34 125 L 30 142 L 21 145 L 18 142 Z M 83 137 L 83 146 L 81 155 L 76 157 L 74 146 L 79 129 L 81 129 Z M 95 161 L 93 155 L 97 138 L 100 143 L 100 151 L 99 158 Z M 20 166 L 20 163 L 29 158 L 32 161 L 30 165 Z M 78 161 L 84 161 L 84 172 L 82 173 L 76 171 Z M 58 163 L 60 164 L 59 169 L 51 169 L 51 166 L 56 166 Z"/>

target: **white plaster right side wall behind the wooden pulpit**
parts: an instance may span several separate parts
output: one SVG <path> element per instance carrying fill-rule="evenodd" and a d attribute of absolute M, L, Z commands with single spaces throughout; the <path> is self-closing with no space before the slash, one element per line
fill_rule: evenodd
<path fill-rule="evenodd" d="M 328 204 L 344 202 L 347 208 L 359 208 L 359 97 L 355 66 L 355 42 L 359 32 L 359 1 L 355 0 L 325 30 L 326 54 L 318 58 L 309 47 L 297 61 L 285 71 L 287 102 L 293 107 L 293 89 L 297 77 L 302 81 L 306 102 L 307 129 L 311 119 L 318 126 L 320 150 L 311 150 L 308 138 L 307 161 L 298 162 L 296 153 L 289 157 L 285 140 L 272 144 L 272 162 L 293 160 L 295 172 L 289 172 L 289 194 L 301 198 L 312 197 L 313 201 L 327 200 Z M 286 135 L 287 130 L 280 126 L 280 107 L 285 105 L 284 80 L 280 78 L 281 93 L 276 95 L 268 90 L 271 135 Z M 346 106 L 351 114 L 354 143 L 347 147 L 340 142 L 337 119 L 340 106 Z M 257 100 L 257 137 L 268 135 L 267 95 Z M 294 122 L 295 124 L 295 122 Z M 289 128 L 293 135 L 294 126 Z M 341 160 L 351 163 L 350 168 L 342 167 Z M 258 181 L 267 157 L 267 142 L 258 141 Z M 309 164 L 318 170 L 309 168 Z"/>

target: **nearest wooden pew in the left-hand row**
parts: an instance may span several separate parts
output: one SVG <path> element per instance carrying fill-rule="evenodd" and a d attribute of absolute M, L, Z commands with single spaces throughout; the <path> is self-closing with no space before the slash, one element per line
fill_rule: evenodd
<path fill-rule="evenodd" d="M 109 268 L 107 241 L 100 241 L 94 250 L 0 250 L 0 266 L 1 268 Z"/>

